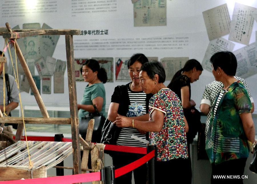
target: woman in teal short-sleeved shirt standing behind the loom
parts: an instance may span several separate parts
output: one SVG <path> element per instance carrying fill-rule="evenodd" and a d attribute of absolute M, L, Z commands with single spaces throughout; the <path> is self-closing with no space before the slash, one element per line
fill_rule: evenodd
<path fill-rule="evenodd" d="M 95 59 L 87 60 L 80 69 L 85 82 L 88 85 L 85 88 L 81 104 L 78 104 L 79 121 L 88 113 L 94 113 L 95 107 L 98 112 L 105 116 L 105 87 L 107 73 L 104 68 L 100 68 L 98 61 Z M 95 106 L 95 107 L 94 107 Z M 82 135 L 85 139 L 85 135 Z M 92 142 L 95 138 L 92 137 Z M 99 141 L 98 141 L 99 142 Z"/>

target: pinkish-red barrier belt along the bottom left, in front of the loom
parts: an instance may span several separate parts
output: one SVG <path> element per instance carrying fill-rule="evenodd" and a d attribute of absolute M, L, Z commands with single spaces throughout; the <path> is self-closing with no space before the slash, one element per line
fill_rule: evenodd
<path fill-rule="evenodd" d="M 21 176 L 22 177 L 22 176 Z M 10 181 L 0 181 L 0 183 L 6 184 L 41 184 L 41 183 L 82 183 L 90 181 L 100 180 L 100 172 L 96 173 L 85 173 L 76 175 L 66 175 L 66 176 L 54 176 L 49 178 L 35 178 L 35 179 L 25 179 L 25 180 L 10 180 Z"/>

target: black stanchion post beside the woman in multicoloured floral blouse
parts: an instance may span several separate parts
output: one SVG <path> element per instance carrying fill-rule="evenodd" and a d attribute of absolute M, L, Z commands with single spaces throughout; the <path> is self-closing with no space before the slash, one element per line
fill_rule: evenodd
<path fill-rule="evenodd" d="M 150 153 L 152 150 L 155 150 L 155 155 L 147 162 L 148 168 L 148 183 L 155 184 L 155 161 L 157 156 L 157 147 L 156 145 L 148 145 L 147 153 Z"/>

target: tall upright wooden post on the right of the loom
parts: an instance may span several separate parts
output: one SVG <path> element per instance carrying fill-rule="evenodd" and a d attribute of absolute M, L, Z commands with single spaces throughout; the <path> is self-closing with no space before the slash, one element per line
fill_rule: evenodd
<path fill-rule="evenodd" d="M 75 81 L 74 51 L 73 51 L 73 35 L 65 35 L 68 86 L 71 113 L 71 137 L 73 150 L 73 171 L 74 174 L 81 174 L 81 158 L 79 145 L 79 122 L 77 107 L 77 91 Z"/>

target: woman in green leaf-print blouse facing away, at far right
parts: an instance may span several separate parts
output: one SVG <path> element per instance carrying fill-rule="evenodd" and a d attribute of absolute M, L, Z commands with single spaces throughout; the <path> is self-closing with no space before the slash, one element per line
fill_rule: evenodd
<path fill-rule="evenodd" d="M 254 144 L 252 104 L 244 85 L 234 78 L 237 68 L 233 53 L 215 53 L 210 62 L 216 81 L 223 83 L 214 102 L 206 138 L 206 152 L 212 163 L 211 183 L 243 183 L 246 159 Z M 240 176 L 214 179 L 216 175 Z"/>

